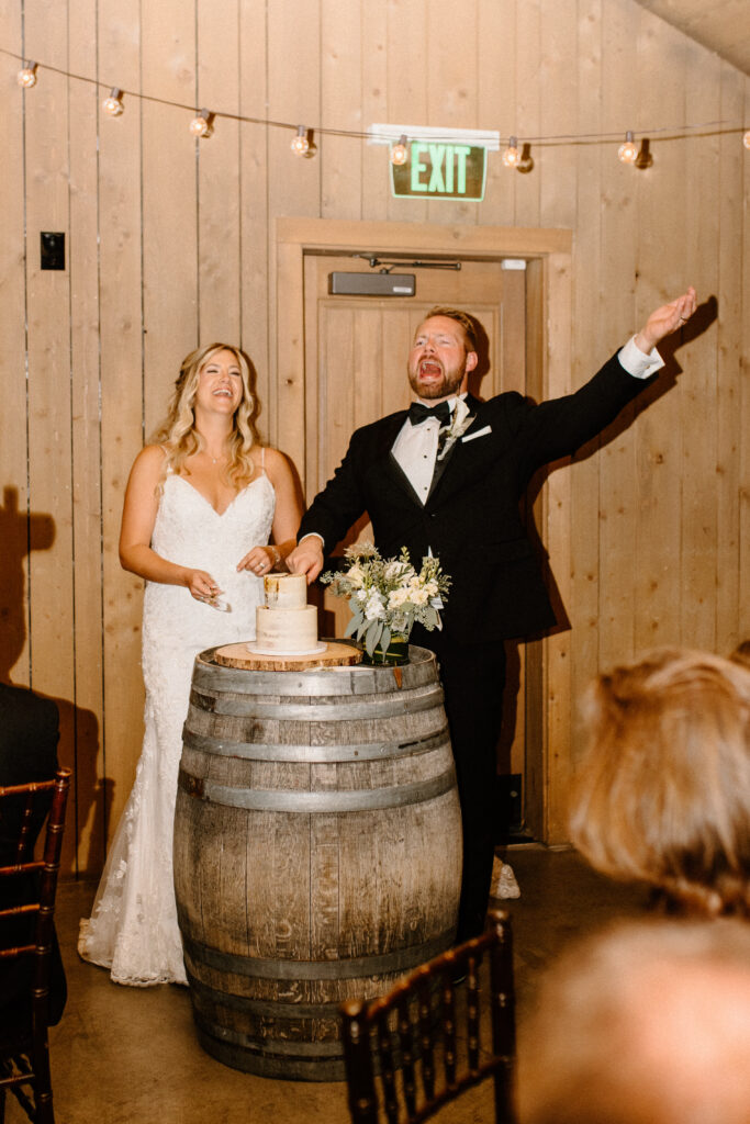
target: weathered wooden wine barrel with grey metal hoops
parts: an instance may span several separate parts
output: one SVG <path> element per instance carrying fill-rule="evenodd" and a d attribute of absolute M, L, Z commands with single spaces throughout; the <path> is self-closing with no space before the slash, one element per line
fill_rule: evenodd
<path fill-rule="evenodd" d="M 338 1004 L 449 948 L 461 882 L 435 656 L 403 668 L 195 664 L 174 886 L 204 1048 L 343 1079 Z"/>

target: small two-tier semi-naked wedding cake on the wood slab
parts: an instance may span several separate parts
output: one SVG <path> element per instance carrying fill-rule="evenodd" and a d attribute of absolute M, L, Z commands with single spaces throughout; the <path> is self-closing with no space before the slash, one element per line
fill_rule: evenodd
<path fill-rule="evenodd" d="M 270 573 L 263 579 L 265 604 L 255 609 L 254 655 L 313 655 L 324 652 L 318 642 L 318 610 L 307 604 L 304 573 Z"/>

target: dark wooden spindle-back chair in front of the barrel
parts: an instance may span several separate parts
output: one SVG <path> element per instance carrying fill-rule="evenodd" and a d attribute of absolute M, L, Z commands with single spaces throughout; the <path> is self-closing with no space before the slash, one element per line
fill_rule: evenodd
<path fill-rule="evenodd" d="M 486 955 L 489 995 L 482 1018 Z M 457 991 L 454 981 L 464 975 L 466 988 Z M 481 975 L 488 975 L 486 964 Z M 341 1013 L 354 1124 L 417 1124 L 490 1076 L 496 1121 L 515 1121 L 513 942 L 505 910 L 491 910 L 481 936 L 415 969 L 388 995 L 350 999 Z M 464 1032 L 457 1030 L 460 1024 Z"/>

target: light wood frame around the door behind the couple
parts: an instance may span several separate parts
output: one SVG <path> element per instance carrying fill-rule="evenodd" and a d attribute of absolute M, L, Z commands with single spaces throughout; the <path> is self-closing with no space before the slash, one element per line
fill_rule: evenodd
<path fill-rule="evenodd" d="M 564 229 L 441 226 L 320 218 L 277 218 L 271 244 L 271 371 L 269 435 L 296 465 L 305 488 L 305 285 L 308 253 L 440 254 L 452 259 L 526 261 L 526 379 L 537 400 L 570 393 L 572 346 L 572 232 Z M 552 473 L 543 488 L 539 531 L 563 604 L 570 596 L 571 474 Z M 534 688 L 526 723 L 535 729 L 525 763 L 526 822 L 535 839 L 566 842 L 566 797 L 571 771 L 570 633 L 527 645 Z"/>

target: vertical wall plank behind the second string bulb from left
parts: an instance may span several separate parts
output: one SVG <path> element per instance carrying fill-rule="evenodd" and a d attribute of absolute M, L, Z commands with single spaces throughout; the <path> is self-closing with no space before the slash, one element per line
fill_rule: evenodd
<path fill-rule="evenodd" d="M 123 89 L 141 84 L 141 25 L 117 0 L 99 2 L 99 67 Z M 112 83 L 114 84 L 114 83 Z M 101 91 L 100 91 L 101 92 Z M 143 736 L 143 582 L 119 564 L 123 495 L 143 441 L 141 106 L 99 120 L 99 291 L 103 597 L 103 755 L 107 828 L 114 831 L 135 776 Z M 146 337 L 147 338 L 147 337 Z"/>

